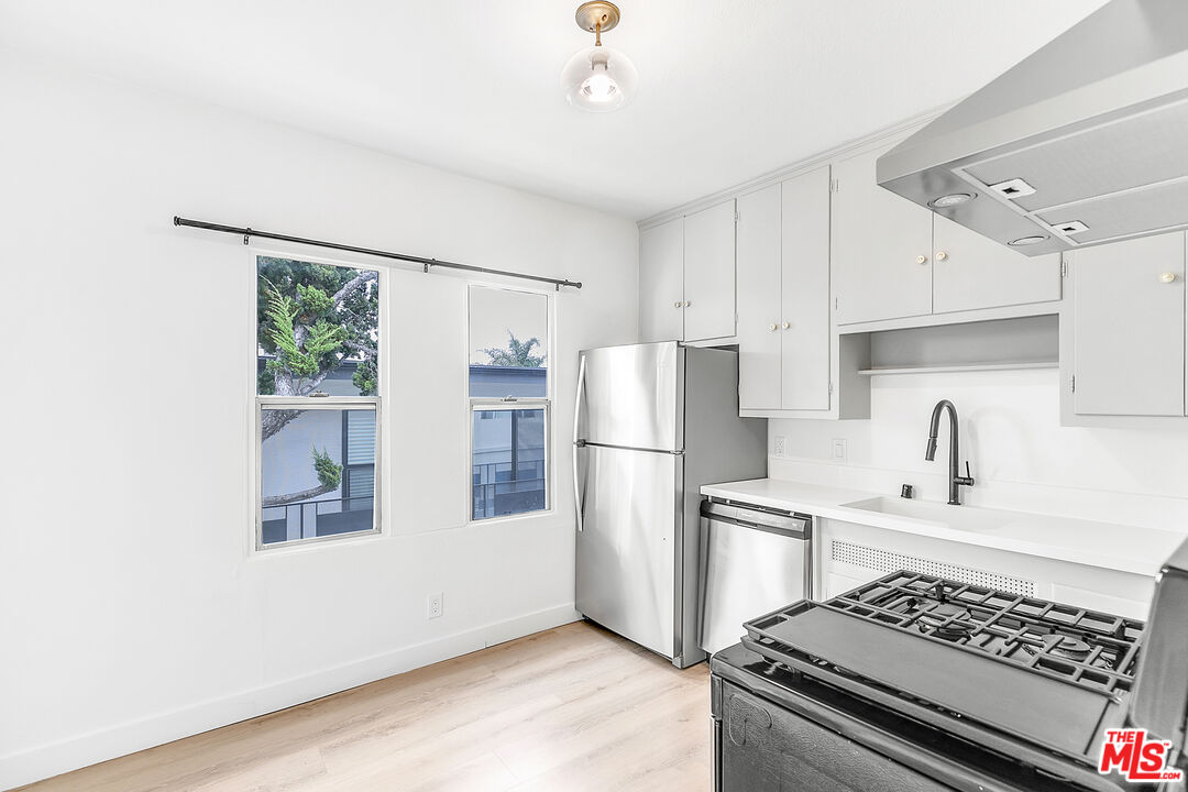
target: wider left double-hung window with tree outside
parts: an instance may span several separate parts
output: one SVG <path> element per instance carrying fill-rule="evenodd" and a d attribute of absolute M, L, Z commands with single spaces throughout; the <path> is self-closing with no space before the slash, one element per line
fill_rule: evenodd
<path fill-rule="evenodd" d="M 375 533 L 380 273 L 255 264 L 255 546 Z"/>

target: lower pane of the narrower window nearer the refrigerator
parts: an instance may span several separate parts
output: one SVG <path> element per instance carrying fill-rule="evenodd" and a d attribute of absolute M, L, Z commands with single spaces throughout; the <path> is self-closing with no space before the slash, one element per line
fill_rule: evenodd
<path fill-rule="evenodd" d="M 474 412 L 475 520 L 545 507 L 544 410 Z"/>

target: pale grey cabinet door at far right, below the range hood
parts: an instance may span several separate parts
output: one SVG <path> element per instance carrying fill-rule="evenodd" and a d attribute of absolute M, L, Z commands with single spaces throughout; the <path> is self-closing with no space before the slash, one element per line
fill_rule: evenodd
<path fill-rule="evenodd" d="M 1073 410 L 1183 416 L 1184 235 L 1064 255 L 1074 299 Z"/>

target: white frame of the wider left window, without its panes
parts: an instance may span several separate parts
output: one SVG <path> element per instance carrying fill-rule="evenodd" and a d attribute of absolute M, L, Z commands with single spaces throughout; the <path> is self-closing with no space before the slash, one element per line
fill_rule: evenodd
<path fill-rule="evenodd" d="M 248 310 L 251 316 L 251 349 L 257 350 L 259 348 L 259 337 L 257 335 L 257 302 L 255 293 L 259 285 L 259 258 L 260 256 L 272 256 L 282 259 L 291 259 L 293 261 L 303 261 L 305 264 L 317 264 L 328 267 L 343 267 L 347 270 L 368 270 L 377 273 L 375 289 L 379 299 L 379 327 L 377 328 L 378 344 L 379 344 L 379 382 L 375 388 L 377 395 L 373 397 L 284 397 L 284 395 L 260 395 L 259 387 L 257 382 L 257 367 L 258 367 L 258 353 L 253 351 L 251 360 L 251 412 L 252 412 L 252 431 L 249 432 L 251 438 L 251 464 L 252 464 L 252 519 L 249 525 L 252 526 L 252 538 L 251 547 L 252 555 L 277 555 L 284 550 L 298 550 L 308 549 L 310 546 L 317 546 L 323 544 L 333 544 L 334 541 L 346 541 L 359 539 L 368 539 L 385 533 L 384 524 L 384 484 L 383 484 L 383 449 L 386 445 L 386 437 L 383 431 L 384 426 L 384 414 L 383 414 L 383 403 L 384 394 L 387 392 L 387 328 L 388 321 L 385 318 L 388 310 L 387 299 L 387 272 L 384 267 L 375 266 L 371 262 L 362 261 L 348 261 L 341 259 L 326 259 L 321 256 L 305 255 L 295 251 L 277 251 L 277 249 L 263 249 L 251 247 L 248 249 L 248 258 L 251 261 L 251 277 L 248 279 L 249 294 L 253 296 L 248 299 Z M 278 408 L 287 407 L 293 410 L 350 410 L 350 408 L 371 408 L 375 413 L 375 474 L 374 474 L 374 493 L 372 495 L 372 527 L 366 531 L 352 531 L 349 533 L 334 533 L 324 537 L 308 537 L 303 539 L 289 539 L 285 541 L 274 541 L 271 544 L 264 544 L 264 410 L 265 408 Z M 343 476 L 346 476 L 346 460 L 343 460 Z M 341 486 L 341 484 L 340 484 Z M 268 507 L 276 508 L 276 507 Z"/>

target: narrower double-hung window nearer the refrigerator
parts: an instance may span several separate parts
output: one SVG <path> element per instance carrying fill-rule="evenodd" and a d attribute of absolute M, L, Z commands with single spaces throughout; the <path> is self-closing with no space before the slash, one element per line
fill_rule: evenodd
<path fill-rule="evenodd" d="M 549 508 L 549 296 L 469 290 L 470 518 Z"/>

